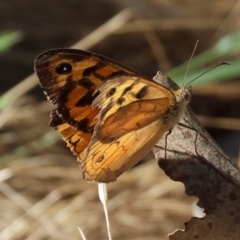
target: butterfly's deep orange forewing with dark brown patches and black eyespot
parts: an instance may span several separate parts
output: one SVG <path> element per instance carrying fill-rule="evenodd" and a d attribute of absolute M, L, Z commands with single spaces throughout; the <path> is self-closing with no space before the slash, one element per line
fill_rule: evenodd
<path fill-rule="evenodd" d="M 92 96 L 94 90 L 102 81 L 125 73 L 92 56 L 86 56 L 85 52 L 72 54 L 69 50 L 63 53 L 53 50 L 40 55 L 35 63 L 40 84 L 47 98 L 56 105 L 55 115 L 85 133 L 93 132 L 93 120 L 99 112 L 91 106 L 96 97 L 96 94 Z M 74 72 L 70 71 L 72 69 Z M 56 127 L 57 123 L 61 121 L 52 118 L 51 126 Z"/>

